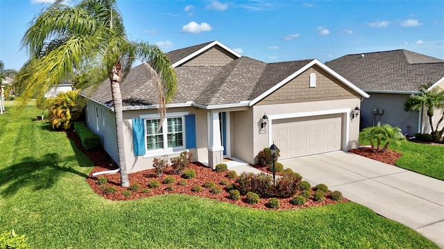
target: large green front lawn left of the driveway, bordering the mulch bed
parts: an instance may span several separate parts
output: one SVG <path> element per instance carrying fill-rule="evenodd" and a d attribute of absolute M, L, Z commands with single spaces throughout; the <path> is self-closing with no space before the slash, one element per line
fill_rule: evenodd
<path fill-rule="evenodd" d="M 31 248 L 438 248 L 356 203 L 265 211 L 166 194 L 109 201 L 85 176 L 92 163 L 39 111 L 0 116 L 0 233 Z"/>

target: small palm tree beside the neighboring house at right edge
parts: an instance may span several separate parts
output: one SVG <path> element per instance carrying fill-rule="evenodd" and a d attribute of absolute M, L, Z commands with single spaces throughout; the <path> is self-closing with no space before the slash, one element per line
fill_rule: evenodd
<path fill-rule="evenodd" d="M 427 91 L 427 86 L 420 86 L 421 93 L 419 95 L 411 95 L 410 98 L 404 103 L 404 107 L 407 111 L 423 111 L 427 109 L 427 117 L 429 117 L 430 129 L 432 134 L 436 132 L 439 124 L 441 124 L 443 117 L 438 121 L 436 129 L 433 125 L 434 109 L 438 107 L 444 107 L 444 91 L 439 91 L 438 88 L 434 88 Z"/>

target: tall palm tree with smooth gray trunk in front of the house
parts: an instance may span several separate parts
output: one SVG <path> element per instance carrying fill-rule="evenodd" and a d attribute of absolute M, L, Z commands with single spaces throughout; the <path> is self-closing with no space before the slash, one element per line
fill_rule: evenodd
<path fill-rule="evenodd" d="M 110 80 L 121 185 L 128 187 L 119 84 L 133 62 L 141 60 L 150 69 L 147 77 L 153 77 L 157 85 L 153 91 L 159 92 L 163 118 L 165 103 L 176 91 L 176 74 L 169 57 L 155 45 L 128 40 L 116 0 L 83 0 L 76 6 L 56 1 L 31 21 L 22 44 L 30 53 L 30 59 L 15 77 L 22 104 L 78 72 L 87 75 L 89 85 Z"/>

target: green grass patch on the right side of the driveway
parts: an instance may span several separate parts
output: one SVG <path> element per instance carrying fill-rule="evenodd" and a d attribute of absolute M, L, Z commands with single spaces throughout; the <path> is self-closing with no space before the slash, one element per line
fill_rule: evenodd
<path fill-rule="evenodd" d="M 370 145 L 370 142 L 360 139 L 359 144 Z M 444 181 L 444 145 L 403 141 L 399 145 L 391 144 L 388 149 L 402 154 L 396 166 Z"/>

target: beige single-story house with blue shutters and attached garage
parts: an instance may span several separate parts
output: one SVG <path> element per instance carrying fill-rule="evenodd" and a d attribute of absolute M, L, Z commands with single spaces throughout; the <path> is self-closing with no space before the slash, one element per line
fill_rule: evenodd
<path fill-rule="evenodd" d="M 128 172 L 152 168 L 153 158 L 186 150 L 214 168 L 227 158 L 253 164 L 257 153 L 273 142 L 280 158 L 358 145 L 357 110 L 368 94 L 316 59 L 267 64 L 217 41 L 167 54 L 178 92 L 167 104 L 164 122 L 143 65 L 132 68 L 121 82 Z M 109 82 L 81 94 L 89 99 L 89 128 L 118 162 Z"/>

